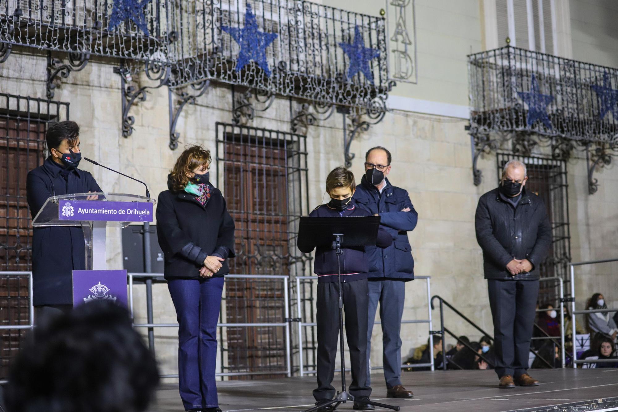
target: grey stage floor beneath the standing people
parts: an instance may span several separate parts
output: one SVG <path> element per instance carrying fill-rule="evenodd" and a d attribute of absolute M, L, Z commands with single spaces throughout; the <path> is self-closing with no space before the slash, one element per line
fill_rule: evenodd
<path fill-rule="evenodd" d="M 396 400 L 386 398 L 384 378 L 376 374 L 371 377 L 371 398 L 399 405 L 402 411 L 618 411 L 618 369 L 541 369 L 530 375 L 541 385 L 498 389 L 493 371 L 404 372 L 403 384 L 414 398 Z M 218 382 L 219 406 L 227 412 L 298 412 L 313 405 L 313 388 L 311 376 Z M 184 411 L 177 385 L 163 384 L 150 412 L 176 411 Z M 352 411 L 352 403 L 337 411 Z"/>

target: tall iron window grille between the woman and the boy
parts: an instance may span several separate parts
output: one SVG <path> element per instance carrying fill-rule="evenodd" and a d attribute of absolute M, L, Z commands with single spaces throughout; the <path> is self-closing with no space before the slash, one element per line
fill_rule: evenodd
<path fill-rule="evenodd" d="M 223 123 L 216 133 L 218 186 L 236 225 L 231 273 L 303 275 L 310 257 L 298 251 L 296 235 L 308 212 L 306 137 Z M 221 321 L 282 322 L 282 288 L 281 280 L 228 279 Z M 286 366 L 285 343 L 281 328 L 229 327 L 219 346 L 222 371 L 269 377 Z"/>

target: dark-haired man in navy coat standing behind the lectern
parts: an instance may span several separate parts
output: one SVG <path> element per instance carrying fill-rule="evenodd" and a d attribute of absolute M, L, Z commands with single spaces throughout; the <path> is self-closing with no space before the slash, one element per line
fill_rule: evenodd
<path fill-rule="evenodd" d="M 26 179 L 28 206 L 33 218 L 51 196 L 101 192 L 95 178 L 77 168 L 82 158 L 77 123 L 64 121 L 51 124 L 45 140 L 49 157 L 42 166 L 28 172 Z M 88 199 L 96 199 L 96 195 Z M 32 300 L 36 317 L 69 311 L 73 303 L 71 273 L 85 268 L 86 251 L 82 228 L 34 228 Z"/>

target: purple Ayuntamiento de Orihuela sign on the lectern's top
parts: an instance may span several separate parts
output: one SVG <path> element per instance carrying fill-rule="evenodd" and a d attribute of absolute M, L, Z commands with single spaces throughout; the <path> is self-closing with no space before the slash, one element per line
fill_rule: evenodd
<path fill-rule="evenodd" d="M 60 220 L 153 221 L 150 202 L 108 202 L 107 200 L 61 200 Z"/>

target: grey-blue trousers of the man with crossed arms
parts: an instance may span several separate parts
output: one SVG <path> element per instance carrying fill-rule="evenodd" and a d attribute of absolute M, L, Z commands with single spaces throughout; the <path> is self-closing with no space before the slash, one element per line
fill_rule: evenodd
<path fill-rule="evenodd" d="M 371 333 L 378 303 L 382 322 L 382 361 L 386 387 L 401 385 L 401 317 L 404 315 L 405 282 L 381 279 L 369 281 L 369 311 L 367 325 L 367 385 L 370 380 Z"/>

